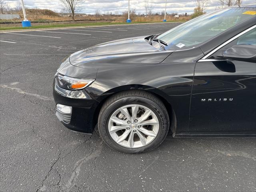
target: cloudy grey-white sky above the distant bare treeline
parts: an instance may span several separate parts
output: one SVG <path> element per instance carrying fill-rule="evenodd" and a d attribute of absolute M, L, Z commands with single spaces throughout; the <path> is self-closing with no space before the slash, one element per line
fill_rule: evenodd
<path fill-rule="evenodd" d="M 20 0 L 7 0 L 10 6 L 14 7 L 16 2 Z M 165 7 L 165 0 L 148 0 L 153 4 L 154 12 L 162 12 Z M 102 14 L 104 12 L 122 13 L 128 9 L 128 0 L 85 0 L 84 8 L 80 13 L 94 14 L 95 10 L 100 10 Z M 195 8 L 195 0 L 167 0 L 167 12 L 178 13 L 192 13 Z M 255 0 L 242 0 L 242 4 L 255 3 Z M 62 6 L 60 0 L 24 0 L 24 4 L 27 8 L 41 8 L 61 11 Z M 218 0 L 209 0 L 206 12 L 215 10 L 218 6 Z M 144 0 L 130 0 L 130 8 L 136 8 L 137 13 L 144 13 Z"/>

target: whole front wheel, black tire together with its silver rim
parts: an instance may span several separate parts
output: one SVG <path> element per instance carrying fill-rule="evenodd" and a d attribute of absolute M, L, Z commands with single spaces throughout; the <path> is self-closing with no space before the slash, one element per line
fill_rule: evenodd
<path fill-rule="evenodd" d="M 114 150 L 130 154 L 158 147 L 166 138 L 169 124 L 168 112 L 161 100 L 138 90 L 111 96 L 98 117 L 98 129 L 104 142 Z"/>

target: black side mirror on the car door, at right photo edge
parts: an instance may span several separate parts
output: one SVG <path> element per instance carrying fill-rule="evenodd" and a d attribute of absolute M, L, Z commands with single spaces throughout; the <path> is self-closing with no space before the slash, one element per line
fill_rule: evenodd
<path fill-rule="evenodd" d="M 222 55 L 231 60 L 255 62 L 256 46 L 254 45 L 234 45 L 222 52 Z"/>

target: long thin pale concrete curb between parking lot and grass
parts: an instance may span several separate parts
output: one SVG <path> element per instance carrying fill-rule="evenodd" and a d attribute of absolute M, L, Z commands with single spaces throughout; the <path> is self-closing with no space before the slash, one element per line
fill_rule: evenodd
<path fill-rule="evenodd" d="M 37 29 L 10 29 L 10 30 L 0 30 L 0 33 L 8 32 L 26 32 L 26 31 L 44 31 L 44 30 L 58 30 L 58 29 L 72 29 L 72 28 L 90 28 L 90 27 L 106 27 L 106 26 L 122 26 L 122 25 L 146 25 L 146 24 L 167 24 L 167 23 L 182 23 L 180 22 L 155 22 L 155 23 L 134 23 L 134 24 L 108 24 L 108 25 L 90 25 L 90 26 L 69 26 L 69 27 L 51 27 L 51 28 L 37 28 Z"/>

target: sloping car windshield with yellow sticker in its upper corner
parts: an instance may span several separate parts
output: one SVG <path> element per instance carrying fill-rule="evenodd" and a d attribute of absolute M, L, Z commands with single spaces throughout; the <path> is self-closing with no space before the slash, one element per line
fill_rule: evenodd
<path fill-rule="evenodd" d="M 166 50 L 188 49 L 255 17 L 255 14 L 255 8 L 224 8 L 185 22 L 157 38 L 168 44 Z"/>

